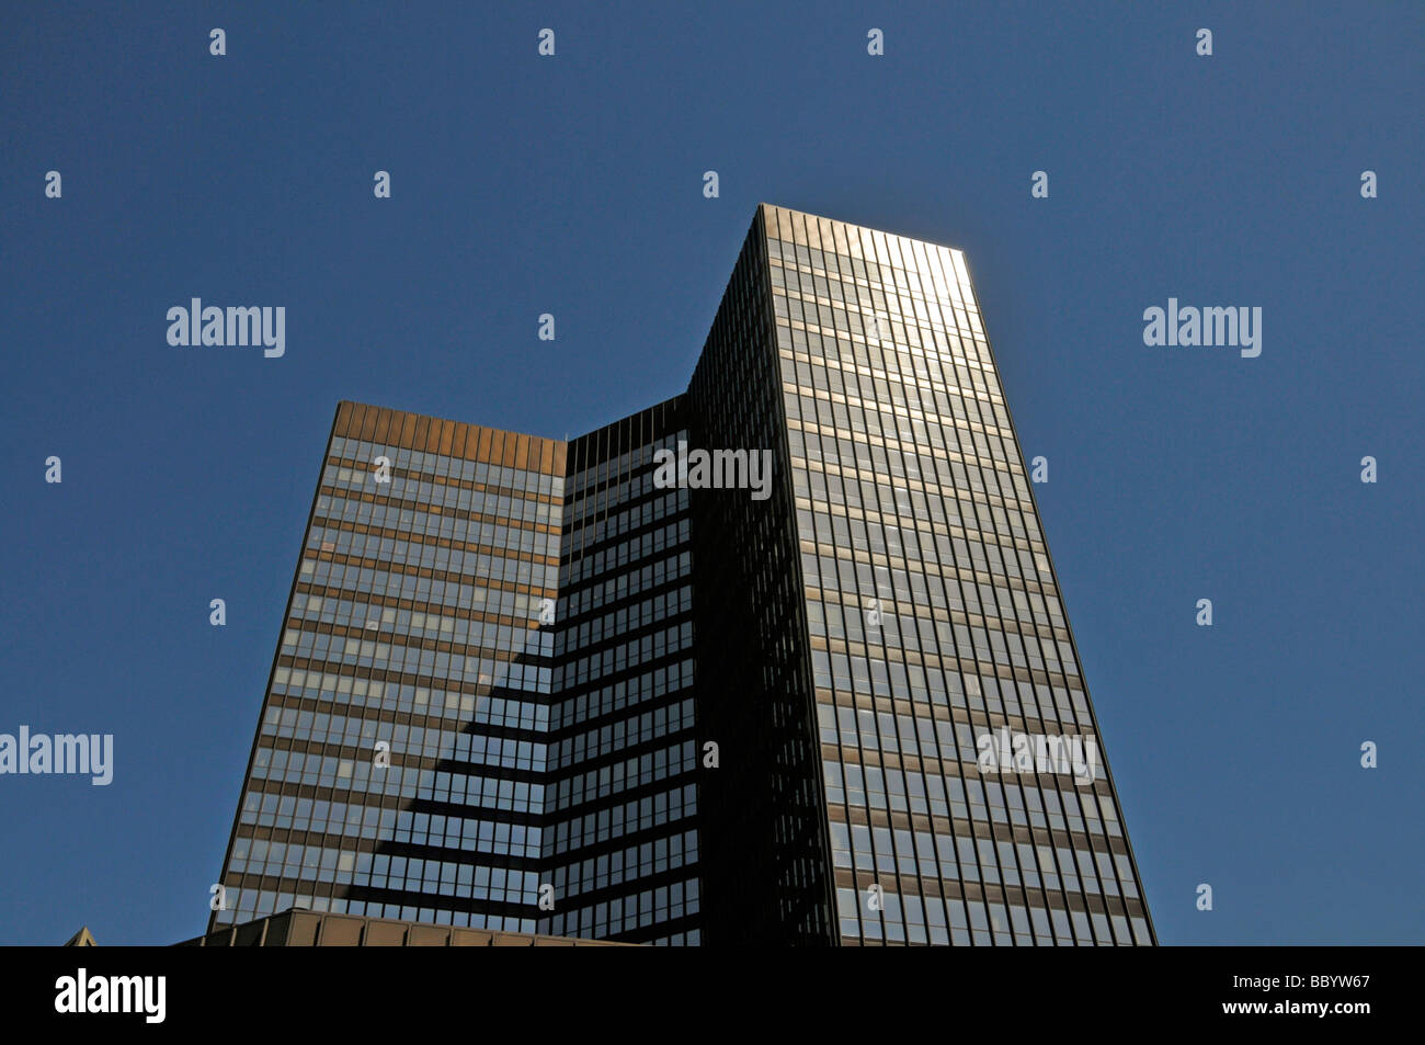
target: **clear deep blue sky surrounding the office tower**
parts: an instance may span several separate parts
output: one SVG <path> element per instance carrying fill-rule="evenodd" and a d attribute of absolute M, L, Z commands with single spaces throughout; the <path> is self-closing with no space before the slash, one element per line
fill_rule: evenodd
<path fill-rule="evenodd" d="M 7 11 L 0 733 L 117 766 L 0 777 L 0 942 L 202 930 L 339 398 L 680 392 L 762 200 L 966 252 L 1163 942 L 1425 940 L 1425 9 L 477 7 Z M 191 297 L 286 355 L 171 348 Z M 1261 356 L 1144 346 L 1170 297 Z"/>

